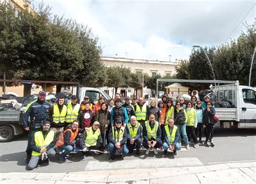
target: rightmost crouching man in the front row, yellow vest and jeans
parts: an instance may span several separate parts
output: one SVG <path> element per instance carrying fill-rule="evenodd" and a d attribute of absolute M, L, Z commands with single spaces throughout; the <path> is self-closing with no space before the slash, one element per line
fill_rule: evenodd
<path fill-rule="evenodd" d="M 164 154 L 167 154 L 167 149 L 173 152 L 174 155 L 177 155 L 176 151 L 181 149 L 179 145 L 179 133 L 177 131 L 177 126 L 174 125 L 174 120 L 172 118 L 167 119 L 168 125 L 165 125 L 163 129 L 164 135 Z"/>

